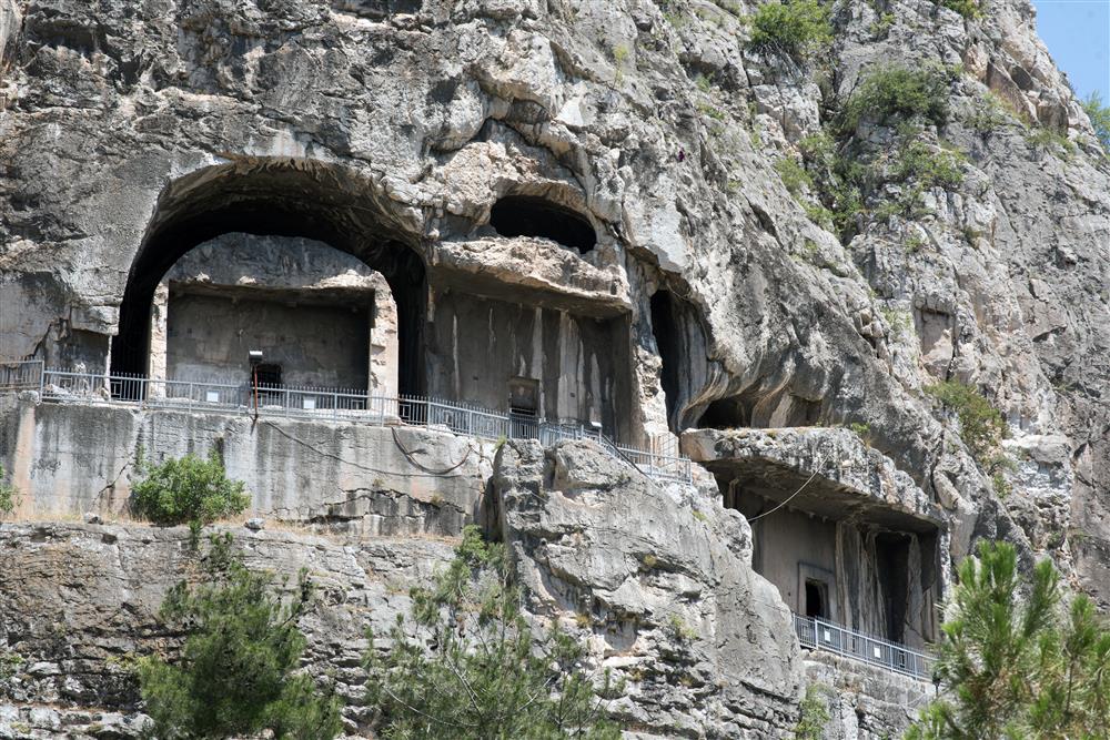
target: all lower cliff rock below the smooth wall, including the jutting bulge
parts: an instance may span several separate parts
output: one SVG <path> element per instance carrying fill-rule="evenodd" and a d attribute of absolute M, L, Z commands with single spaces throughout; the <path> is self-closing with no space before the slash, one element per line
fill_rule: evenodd
<path fill-rule="evenodd" d="M 907 702 L 928 688 L 852 661 L 804 661 L 789 611 L 751 570 L 743 517 L 615 468 L 593 445 L 508 443 L 490 496 L 490 533 L 509 545 L 527 611 L 584 640 L 589 668 L 625 682 L 608 711 L 630 737 L 788 736 L 811 675 L 841 683 L 836 727 L 877 738 L 904 726 Z M 452 558 L 452 544 L 224 530 L 252 568 L 291 584 L 307 569 L 317 596 L 301 624 L 306 666 L 334 677 L 347 732 L 366 737 L 375 718 L 362 706 L 365 630 L 387 633 L 407 614 L 408 589 Z M 184 528 L 0 528 L 0 643 L 22 660 L 0 682 L 0 737 L 137 734 L 144 719 L 128 658 L 176 645 L 155 615 L 201 555 Z"/>

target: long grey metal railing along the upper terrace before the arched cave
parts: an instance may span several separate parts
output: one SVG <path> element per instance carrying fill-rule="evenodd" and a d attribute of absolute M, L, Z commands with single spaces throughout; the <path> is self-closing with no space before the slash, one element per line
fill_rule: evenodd
<path fill-rule="evenodd" d="M 0 375 L 0 379 L 3 377 Z M 13 378 L 27 379 L 29 389 L 38 388 L 43 401 L 60 403 L 80 401 L 375 425 L 407 424 L 447 428 L 455 434 L 483 439 L 538 439 L 544 445 L 567 439 L 591 439 L 652 478 L 679 483 L 692 480 L 692 464 L 687 457 L 618 446 L 601 430 L 583 424 L 552 423 L 457 401 L 375 396 L 352 388 L 163 381 L 143 375 L 43 368 L 42 363 L 38 363 L 33 371 L 14 372 Z M 0 383 L 0 391 L 12 389 L 17 389 L 14 385 Z"/>

